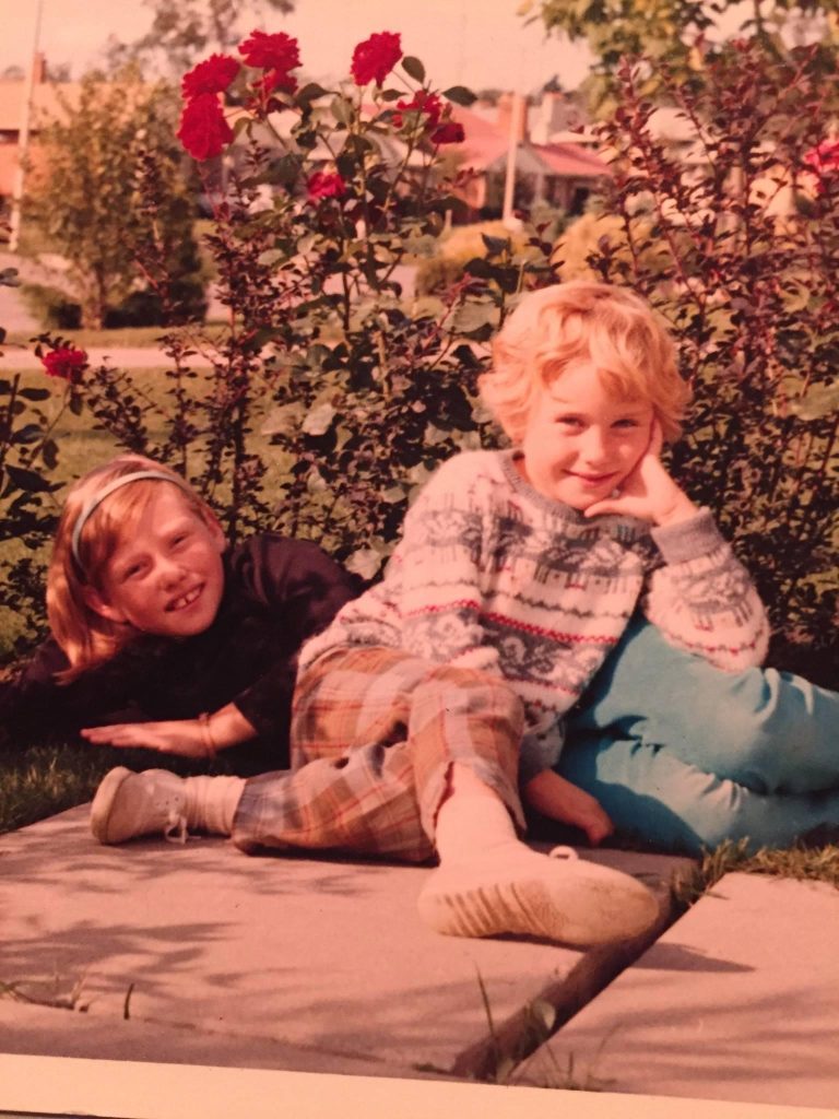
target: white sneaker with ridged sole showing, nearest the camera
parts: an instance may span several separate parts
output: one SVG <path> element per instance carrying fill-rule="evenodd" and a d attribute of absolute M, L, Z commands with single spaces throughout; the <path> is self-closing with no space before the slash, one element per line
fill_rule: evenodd
<path fill-rule="evenodd" d="M 516 846 L 500 864 L 440 866 L 417 900 L 423 921 L 450 937 L 515 933 L 582 947 L 635 937 L 658 919 L 656 897 L 629 874 L 567 847 L 549 858 Z"/>

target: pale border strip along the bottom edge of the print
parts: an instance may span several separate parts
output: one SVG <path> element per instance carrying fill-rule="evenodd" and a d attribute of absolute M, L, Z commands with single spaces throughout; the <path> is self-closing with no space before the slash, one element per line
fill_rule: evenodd
<path fill-rule="evenodd" d="M 666 1097 L 545 1091 L 465 1082 L 341 1076 L 270 1069 L 4 1057 L 0 1108 L 15 1119 L 120 1116 L 121 1119 L 673 1119 Z M 0 1110 L 0 1115 L 9 1113 Z M 23 1115 L 21 1115 L 23 1112 Z M 682 1101 L 688 1119 L 824 1119 L 811 1108 Z"/>

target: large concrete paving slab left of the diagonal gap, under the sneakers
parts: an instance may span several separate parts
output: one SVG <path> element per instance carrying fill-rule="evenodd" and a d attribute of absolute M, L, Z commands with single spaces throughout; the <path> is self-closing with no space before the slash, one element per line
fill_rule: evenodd
<path fill-rule="evenodd" d="M 596 857 L 657 883 L 667 922 L 685 859 Z M 440 937 L 415 914 L 428 873 L 249 858 L 216 838 L 101 847 L 86 806 L 2 836 L 0 1051 L 95 1057 L 106 1038 L 114 1059 L 143 1059 L 136 1046 L 160 1060 L 143 1031 L 159 1025 L 176 1063 L 471 1075 L 499 1040 L 532 1029 L 527 1007 L 571 1013 L 650 942 L 579 952 Z"/>

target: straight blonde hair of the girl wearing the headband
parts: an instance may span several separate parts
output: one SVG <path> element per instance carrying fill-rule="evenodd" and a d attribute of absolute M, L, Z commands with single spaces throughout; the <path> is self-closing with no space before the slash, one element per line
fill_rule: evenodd
<path fill-rule="evenodd" d="M 141 471 L 152 471 L 155 478 L 126 482 L 91 510 L 97 495 L 112 482 Z M 215 521 L 213 510 L 180 474 L 141 454 L 121 454 L 96 467 L 74 482 L 67 493 L 47 572 L 49 628 L 69 661 L 69 668 L 57 677 L 63 683 L 110 660 L 134 637 L 130 627 L 97 613 L 88 604 L 85 590 L 103 591 L 107 561 L 121 540 L 136 528 L 149 502 L 160 492 L 161 482 L 167 485 L 160 476 L 171 479 L 202 520 Z M 79 517 L 84 517 L 84 523 L 74 554 L 74 534 Z"/>

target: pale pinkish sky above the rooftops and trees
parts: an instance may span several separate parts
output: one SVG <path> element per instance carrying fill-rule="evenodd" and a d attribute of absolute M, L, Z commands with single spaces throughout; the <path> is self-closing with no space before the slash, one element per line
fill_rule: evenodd
<path fill-rule="evenodd" d="M 353 46 L 374 31 L 399 31 L 406 54 L 425 64 L 437 86 L 455 84 L 529 92 L 554 75 L 567 90 L 586 76 L 582 44 L 546 38 L 526 26 L 519 0 L 296 0 L 293 16 L 268 15 L 264 30 L 300 40 L 308 77 L 346 77 Z M 39 47 L 53 64 L 70 63 L 73 77 L 95 65 L 110 34 L 123 41 L 143 35 L 151 9 L 143 0 L 41 0 Z M 28 67 L 36 35 L 37 0 L 0 0 L 0 72 Z M 249 30 L 249 28 L 248 28 Z"/>

